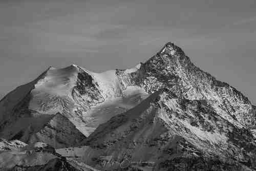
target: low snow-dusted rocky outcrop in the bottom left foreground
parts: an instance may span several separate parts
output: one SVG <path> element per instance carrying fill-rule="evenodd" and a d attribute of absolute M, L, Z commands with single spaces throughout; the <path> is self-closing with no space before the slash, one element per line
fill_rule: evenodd
<path fill-rule="evenodd" d="M 57 154 L 53 147 L 38 144 L 26 151 L 0 153 L 0 169 L 3 171 L 80 171 L 79 168 L 72 166 L 65 157 Z"/>

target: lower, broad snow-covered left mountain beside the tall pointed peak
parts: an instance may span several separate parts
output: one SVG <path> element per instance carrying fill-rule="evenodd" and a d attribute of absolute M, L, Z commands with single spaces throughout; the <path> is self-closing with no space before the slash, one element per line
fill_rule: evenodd
<path fill-rule="evenodd" d="M 133 108 L 146 95 L 137 86 L 123 90 L 115 70 L 93 73 L 76 65 L 50 67 L 1 100 L 0 137 L 26 143 L 44 141 L 54 147 L 75 145 L 100 123 Z M 63 129 L 61 124 L 72 126 Z M 57 133 L 61 135 L 56 140 Z"/>

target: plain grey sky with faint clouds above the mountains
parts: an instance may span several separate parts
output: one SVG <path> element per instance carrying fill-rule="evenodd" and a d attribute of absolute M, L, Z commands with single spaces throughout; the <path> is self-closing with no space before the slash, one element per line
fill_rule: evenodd
<path fill-rule="evenodd" d="M 254 0 L 1 0 L 0 98 L 49 66 L 127 69 L 172 41 L 256 104 L 255 9 Z"/>

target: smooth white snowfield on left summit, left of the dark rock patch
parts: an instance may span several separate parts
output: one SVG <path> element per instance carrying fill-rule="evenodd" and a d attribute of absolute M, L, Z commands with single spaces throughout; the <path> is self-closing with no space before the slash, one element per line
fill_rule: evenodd
<path fill-rule="evenodd" d="M 76 85 L 77 73 L 74 66 L 49 70 L 31 91 L 33 98 L 29 108 L 40 113 L 55 114 L 63 112 L 63 104 L 72 106 L 71 90 Z"/>

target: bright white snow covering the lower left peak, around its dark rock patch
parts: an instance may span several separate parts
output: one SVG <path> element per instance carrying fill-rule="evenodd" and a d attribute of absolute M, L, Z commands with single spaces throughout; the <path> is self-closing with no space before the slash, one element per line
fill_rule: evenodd
<path fill-rule="evenodd" d="M 130 71 L 135 71 L 139 67 L 140 65 Z M 79 69 L 93 77 L 93 82 L 105 99 L 103 103 L 92 106 L 92 109 L 87 112 L 84 111 L 83 121 L 74 113 L 76 106 L 81 104 L 76 104 L 72 97 L 72 90 L 76 86 Z M 115 70 L 94 73 L 76 65 L 63 69 L 51 67 L 44 77 L 35 82 L 34 86 L 35 88 L 31 91 L 32 99 L 29 102 L 29 109 L 35 111 L 32 113 L 34 117 L 42 114 L 55 115 L 58 112 L 62 113 L 65 116 L 70 116 L 68 118 L 86 136 L 89 136 L 100 123 L 133 108 L 147 95 L 139 87 L 127 87 L 126 90 L 123 90 Z M 45 121 L 42 121 L 42 123 L 45 123 Z M 16 125 L 26 125 L 26 123 L 22 119 Z"/>

